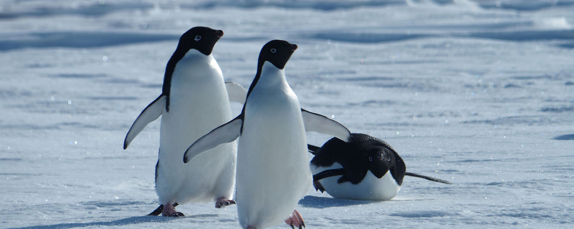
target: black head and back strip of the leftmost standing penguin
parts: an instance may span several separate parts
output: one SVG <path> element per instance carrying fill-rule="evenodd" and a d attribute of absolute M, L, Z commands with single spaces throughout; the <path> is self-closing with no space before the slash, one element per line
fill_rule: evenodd
<path fill-rule="evenodd" d="M 205 56 L 209 56 L 214 49 L 215 43 L 223 36 L 222 30 L 210 29 L 208 27 L 193 27 L 181 35 L 179 43 L 172 57 L 169 58 L 165 67 L 164 86 L 162 94 L 167 96 L 165 101 L 165 110 L 169 112 L 169 92 L 172 82 L 172 74 L 176 68 L 177 62 L 185 56 L 190 49 L 197 49 Z"/>

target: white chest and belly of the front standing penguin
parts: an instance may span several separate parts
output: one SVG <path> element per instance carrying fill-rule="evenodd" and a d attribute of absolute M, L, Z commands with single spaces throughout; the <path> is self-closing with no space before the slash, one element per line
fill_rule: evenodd
<path fill-rule="evenodd" d="M 239 223 L 244 228 L 284 222 L 312 182 L 300 105 L 286 87 L 268 93 L 273 96 L 258 96 L 267 93 L 256 87 L 247 99 L 236 192 Z"/>

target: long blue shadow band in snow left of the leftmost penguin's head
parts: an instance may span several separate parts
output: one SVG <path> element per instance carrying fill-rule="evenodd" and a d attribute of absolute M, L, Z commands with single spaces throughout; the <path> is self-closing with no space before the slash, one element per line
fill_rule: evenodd
<path fill-rule="evenodd" d="M 56 32 L 30 33 L 25 38 L 0 40 L 0 50 L 24 48 L 93 48 L 139 42 L 179 40 L 180 35 L 146 33 Z"/>

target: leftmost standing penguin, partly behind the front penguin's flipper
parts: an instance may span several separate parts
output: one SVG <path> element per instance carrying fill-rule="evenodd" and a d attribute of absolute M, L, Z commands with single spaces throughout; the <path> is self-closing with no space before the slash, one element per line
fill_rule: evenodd
<path fill-rule="evenodd" d="M 123 148 L 148 123 L 161 116 L 160 151 L 156 164 L 156 192 L 160 207 L 149 215 L 183 216 L 179 203 L 235 203 L 236 143 L 214 148 L 188 164 L 181 155 L 199 137 L 231 120 L 230 101 L 243 104 L 247 91 L 224 82 L 211 55 L 223 31 L 193 27 L 181 35 L 165 68 L 162 93 L 137 117 L 127 132 Z"/>

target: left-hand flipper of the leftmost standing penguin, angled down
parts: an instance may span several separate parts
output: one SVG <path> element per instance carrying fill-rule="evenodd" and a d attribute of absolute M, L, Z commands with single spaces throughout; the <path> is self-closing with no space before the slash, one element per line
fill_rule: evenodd
<path fill-rule="evenodd" d="M 139 114 L 137 119 L 135 119 L 134 124 L 131 124 L 130 130 L 127 132 L 126 138 L 123 140 L 123 149 L 127 149 L 127 146 L 130 145 L 131 141 L 134 140 L 135 136 L 137 136 L 146 125 L 151 123 L 153 120 L 156 120 L 162 113 L 164 113 L 165 101 L 167 98 L 167 96 L 161 94 L 160 97 L 157 97 L 156 100 L 142 110 L 142 113 Z"/>

